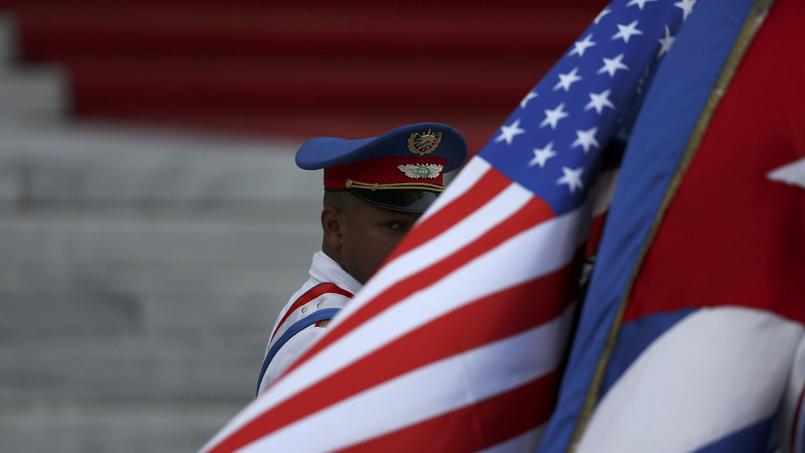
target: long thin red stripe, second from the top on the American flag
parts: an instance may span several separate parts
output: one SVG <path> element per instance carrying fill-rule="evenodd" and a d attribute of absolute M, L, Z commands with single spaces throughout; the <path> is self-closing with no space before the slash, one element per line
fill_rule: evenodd
<path fill-rule="evenodd" d="M 494 226 L 481 237 L 432 266 L 422 269 L 408 278 L 395 283 L 353 312 L 351 316 L 344 318 L 340 324 L 332 327 L 331 331 L 324 336 L 321 341 L 314 343 L 310 349 L 297 359 L 285 374 L 294 370 L 299 364 L 304 363 L 308 358 L 317 354 L 364 322 L 377 316 L 390 306 L 405 299 L 416 291 L 421 291 L 433 285 L 468 262 L 553 216 L 554 212 L 550 205 L 539 198 L 532 199 L 517 212 L 506 218 L 500 224 Z"/>

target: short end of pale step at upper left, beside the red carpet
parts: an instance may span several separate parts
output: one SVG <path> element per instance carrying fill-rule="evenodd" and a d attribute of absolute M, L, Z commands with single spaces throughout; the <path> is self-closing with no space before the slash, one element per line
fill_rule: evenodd
<path fill-rule="evenodd" d="M 0 69 L 0 121 L 53 121 L 67 111 L 67 86 L 56 67 L 3 64 Z"/>

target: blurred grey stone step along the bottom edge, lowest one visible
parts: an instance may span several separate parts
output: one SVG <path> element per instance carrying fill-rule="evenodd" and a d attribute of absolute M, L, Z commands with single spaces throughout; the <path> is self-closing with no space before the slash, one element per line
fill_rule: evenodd
<path fill-rule="evenodd" d="M 244 402 L 245 404 L 245 402 Z M 191 452 L 241 404 L 42 404 L 0 408 L 3 451 Z"/>

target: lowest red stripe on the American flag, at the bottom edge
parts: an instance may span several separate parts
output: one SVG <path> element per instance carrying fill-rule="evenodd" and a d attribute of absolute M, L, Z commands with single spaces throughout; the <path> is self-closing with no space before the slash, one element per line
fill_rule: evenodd
<path fill-rule="evenodd" d="M 544 424 L 556 404 L 559 372 L 343 452 L 470 452 L 489 448 Z"/>

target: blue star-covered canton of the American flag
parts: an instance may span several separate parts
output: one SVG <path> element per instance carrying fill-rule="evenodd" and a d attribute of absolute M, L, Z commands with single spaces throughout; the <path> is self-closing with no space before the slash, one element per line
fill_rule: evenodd
<path fill-rule="evenodd" d="M 628 132 L 630 112 L 694 2 L 612 2 L 523 98 L 481 156 L 557 215 L 580 206 L 602 151 Z"/>

